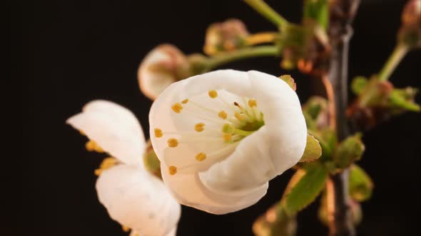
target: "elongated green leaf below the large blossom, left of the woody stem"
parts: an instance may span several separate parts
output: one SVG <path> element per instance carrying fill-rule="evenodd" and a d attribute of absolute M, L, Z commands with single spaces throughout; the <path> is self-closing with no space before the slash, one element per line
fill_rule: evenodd
<path fill-rule="evenodd" d="M 285 210 L 288 215 L 298 213 L 312 203 L 325 187 L 328 171 L 319 164 L 310 165 L 305 175 L 285 195 Z"/>

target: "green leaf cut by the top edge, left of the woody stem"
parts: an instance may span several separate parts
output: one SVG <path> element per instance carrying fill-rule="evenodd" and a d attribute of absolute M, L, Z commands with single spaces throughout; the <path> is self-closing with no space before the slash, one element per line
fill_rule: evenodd
<path fill-rule="evenodd" d="M 304 18 L 310 18 L 326 30 L 329 23 L 328 0 L 306 0 Z"/>

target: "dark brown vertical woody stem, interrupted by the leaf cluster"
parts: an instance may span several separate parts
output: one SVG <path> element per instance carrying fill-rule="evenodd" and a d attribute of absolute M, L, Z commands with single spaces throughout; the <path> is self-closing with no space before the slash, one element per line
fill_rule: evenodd
<path fill-rule="evenodd" d="M 333 87 L 334 127 L 338 141 L 349 135 L 346 108 L 348 105 L 348 48 L 352 36 L 351 22 L 360 0 L 335 0 L 330 4 L 329 38 L 332 50 L 328 80 Z M 333 121 L 332 121 L 333 122 Z M 349 170 L 330 176 L 328 181 L 328 214 L 331 236 L 355 235 L 348 193 Z"/>

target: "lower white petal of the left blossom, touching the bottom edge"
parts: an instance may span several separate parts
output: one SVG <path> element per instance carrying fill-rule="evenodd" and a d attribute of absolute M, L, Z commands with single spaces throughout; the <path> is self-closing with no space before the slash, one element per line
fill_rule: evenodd
<path fill-rule="evenodd" d="M 162 181 L 140 167 L 121 164 L 106 169 L 96 191 L 113 220 L 142 236 L 171 235 L 181 215 L 181 206 Z"/>

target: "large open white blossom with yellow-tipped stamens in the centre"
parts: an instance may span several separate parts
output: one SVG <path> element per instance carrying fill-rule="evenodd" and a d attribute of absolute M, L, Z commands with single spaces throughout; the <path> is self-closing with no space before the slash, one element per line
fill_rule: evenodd
<path fill-rule="evenodd" d="M 297 163 L 307 128 L 278 77 L 218 70 L 173 83 L 149 114 L 153 149 L 179 203 L 209 213 L 246 208 Z"/>

